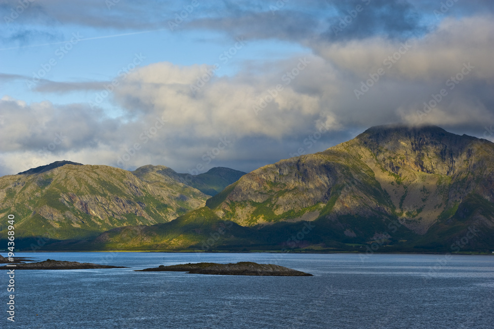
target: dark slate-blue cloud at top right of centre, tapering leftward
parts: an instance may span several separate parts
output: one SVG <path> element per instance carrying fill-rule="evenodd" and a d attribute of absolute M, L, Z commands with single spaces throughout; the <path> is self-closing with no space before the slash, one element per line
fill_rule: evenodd
<path fill-rule="evenodd" d="M 196 18 L 188 29 L 207 28 L 249 39 L 307 40 L 360 39 L 372 36 L 406 39 L 423 35 L 428 27 L 422 13 L 402 0 L 308 1 L 303 9 L 288 4 L 264 10 L 235 7 L 219 17 Z"/>

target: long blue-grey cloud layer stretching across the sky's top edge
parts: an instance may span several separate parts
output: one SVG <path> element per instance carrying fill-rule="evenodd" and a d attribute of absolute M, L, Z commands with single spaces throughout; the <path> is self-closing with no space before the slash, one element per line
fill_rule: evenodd
<path fill-rule="evenodd" d="M 11 31 L 4 38 L 5 42 L 58 38 L 58 29 L 65 25 L 125 31 L 168 29 L 169 23 L 175 22 L 176 14 L 191 6 L 190 2 L 35 1 L 10 24 Z M 492 13 L 494 10 L 492 1 L 457 1 L 436 19 L 434 10 L 441 10 L 441 2 L 422 0 L 223 0 L 198 3 L 177 29 L 210 29 L 233 37 L 277 38 L 300 43 L 318 39 L 423 36 L 446 17 Z M 8 14 L 17 5 L 17 1 L 8 0 L 0 5 L 0 11 Z M 356 11 L 357 6 L 361 6 L 360 12 Z M 25 28 L 26 25 L 30 28 Z M 17 31 L 18 28 L 23 30 Z"/>

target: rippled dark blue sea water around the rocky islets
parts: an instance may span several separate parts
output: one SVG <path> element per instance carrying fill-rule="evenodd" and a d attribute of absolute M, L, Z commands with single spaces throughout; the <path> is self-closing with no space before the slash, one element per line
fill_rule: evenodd
<path fill-rule="evenodd" d="M 0 328 L 494 328 L 494 256 L 22 253 L 128 269 L 17 270 Z M 255 261 L 313 277 L 133 272 Z"/>

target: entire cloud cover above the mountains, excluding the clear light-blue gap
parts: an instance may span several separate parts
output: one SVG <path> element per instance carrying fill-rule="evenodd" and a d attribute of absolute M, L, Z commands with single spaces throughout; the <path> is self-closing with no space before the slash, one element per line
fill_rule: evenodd
<path fill-rule="evenodd" d="M 139 20 L 149 8 L 121 1 L 104 8 L 111 14 L 103 21 L 90 10 L 101 2 L 87 3 L 77 19 L 68 10 L 78 4 L 65 1 L 40 4 L 43 10 L 22 19 L 35 15 L 43 24 L 71 19 L 95 28 L 148 29 L 163 27 L 176 13 L 153 10 L 147 21 Z M 466 7 L 459 1 L 445 12 L 426 1 L 280 3 L 204 5 L 180 28 L 221 32 L 232 44 L 243 36 L 245 47 L 285 40 L 303 45 L 305 53 L 243 63 L 232 75 L 211 64 L 161 61 L 124 79 L 113 77 L 118 81 L 113 88 L 112 80 L 43 80 L 33 90 L 48 98 L 106 95 L 104 103 L 27 103 L 4 95 L 0 174 L 62 158 L 124 169 L 151 163 L 180 172 L 219 165 L 250 171 L 392 122 L 494 137 L 486 134 L 494 124 L 491 2 L 472 1 L 468 14 L 460 16 L 456 13 Z M 176 3 L 173 8 L 180 12 Z M 23 78 L 4 73 L 0 83 Z M 106 103 L 122 114 L 107 115 Z"/>

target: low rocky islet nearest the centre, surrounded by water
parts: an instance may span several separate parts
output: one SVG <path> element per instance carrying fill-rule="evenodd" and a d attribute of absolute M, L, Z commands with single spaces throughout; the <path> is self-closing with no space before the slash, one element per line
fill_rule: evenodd
<path fill-rule="evenodd" d="M 238 263 L 188 263 L 179 265 L 160 265 L 160 267 L 135 270 L 136 272 L 187 272 L 189 274 L 216 274 L 216 275 L 271 275 L 271 276 L 312 276 L 288 267 L 273 264 L 258 264 L 250 261 Z"/>

